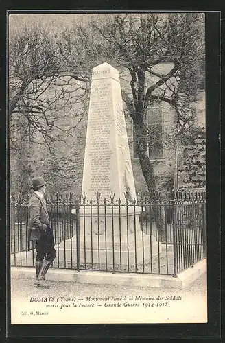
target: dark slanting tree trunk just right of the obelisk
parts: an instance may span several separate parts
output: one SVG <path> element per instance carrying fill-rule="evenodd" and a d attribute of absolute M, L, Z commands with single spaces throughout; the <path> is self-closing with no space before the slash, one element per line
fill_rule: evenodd
<path fill-rule="evenodd" d="M 147 156 L 147 129 L 143 123 L 134 123 L 135 137 L 137 143 L 137 154 L 141 170 L 150 193 L 151 202 L 155 203 L 157 198 L 156 180 L 154 177 L 153 165 Z M 152 206 L 156 223 L 156 231 L 159 241 L 165 241 L 165 209 L 164 206 Z"/>

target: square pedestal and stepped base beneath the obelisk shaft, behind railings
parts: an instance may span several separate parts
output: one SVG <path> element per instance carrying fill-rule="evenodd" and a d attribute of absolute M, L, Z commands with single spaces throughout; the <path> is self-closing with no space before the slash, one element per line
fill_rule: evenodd
<path fill-rule="evenodd" d="M 107 210 L 107 211 L 106 211 Z M 75 210 L 72 211 L 74 213 Z M 112 213 L 113 212 L 113 213 Z M 108 268 L 128 268 L 149 263 L 161 252 L 154 236 L 140 230 L 138 207 L 80 211 L 80 263 Z M 113 215 L 113 216 L 112 216 Z M 60 254 L 76 256 L 77 239 L 67 239 L 59 246 Z M 72 251 L 71 251 L 72 250 Z"/>

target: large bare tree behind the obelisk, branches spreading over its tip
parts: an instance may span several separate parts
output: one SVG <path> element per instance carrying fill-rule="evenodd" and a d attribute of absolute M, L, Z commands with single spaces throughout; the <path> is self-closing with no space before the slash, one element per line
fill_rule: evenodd
<path fill-rule="evenodd" d="M 63 57 L 73 71 L 91 69 L 100 62 L 126 69 L 130 90 L 123 100 L 133 120 L 137 153 L 152 198 L 156 194 L 153 165 L 147 144 L 154 132 L 146 126 L 146 111 L 152 102 L 165 102 L 174 108 L 177 128 L 174 139 L 193 124 L 194 101 L 202 80 L 204 48 L 202 14 L 99 14 L 64 32 Z M 171 69 L 158 73 L 155 67 L 170 63 Z M 89 75 L 89 77 L 88 77 Z M 156 80 L 146 87 L 147 80 Z M 154 139 L 153 139 L 154 140 Z"/>

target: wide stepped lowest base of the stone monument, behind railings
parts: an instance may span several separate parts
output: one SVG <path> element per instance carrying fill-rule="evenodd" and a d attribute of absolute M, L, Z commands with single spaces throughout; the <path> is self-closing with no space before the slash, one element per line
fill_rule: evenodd
<path fill-rule="evenodd" d="M 59 255 L 77 256 L 77 241 L 71 239 L 62 241 L 58 247 Z M 115 268 L 128 268 L 149 263 L 155 256 L 161 254 L 161 243 L 156 242 L 154 236 L 139 231 L 134 235 L 80 235 L 80 264 L 105 265 Z M 68 256 L 67 256 L 68 255 Z"/>

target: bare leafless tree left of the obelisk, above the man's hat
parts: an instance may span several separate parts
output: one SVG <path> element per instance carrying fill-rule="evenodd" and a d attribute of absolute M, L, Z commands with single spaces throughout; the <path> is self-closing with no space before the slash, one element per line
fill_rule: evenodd
<path fill-rule="evenodd" d="M 9 25 L 10 189 L 26 193 L 43 165 L 38 154 L 45 154 L 49 176 L 56 158 L 70 151 L 88 93 L 64 69 L 51 25 L 42 17 L 15 17 Z"/>

